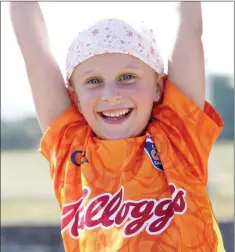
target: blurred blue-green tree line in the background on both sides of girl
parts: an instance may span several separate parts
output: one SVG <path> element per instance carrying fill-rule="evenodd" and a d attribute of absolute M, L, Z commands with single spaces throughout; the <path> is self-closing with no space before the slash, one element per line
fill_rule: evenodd
<path fill-rule="evenodd" d="M 212 104 L 222 116 L 225 127 L 219 140 L 234 140 L 234 88 L 232 78 L 213 75 L 208 79 Z M 38 148 L 42 137 L 36 117 L 27 117 L 17 121 L 1 120 L 1 149 Z"/>

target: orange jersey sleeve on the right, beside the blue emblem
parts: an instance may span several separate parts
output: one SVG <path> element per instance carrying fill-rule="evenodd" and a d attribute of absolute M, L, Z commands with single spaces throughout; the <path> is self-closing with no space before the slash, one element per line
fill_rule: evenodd
<path fill-rule="evenodd" d="M 175 155 L 207 179 L 209 154 L 224 126 L 215 109 L 208 102 L 201 109 L 167 80 L 162 103 L 154 108 L 153 118 Z"/>

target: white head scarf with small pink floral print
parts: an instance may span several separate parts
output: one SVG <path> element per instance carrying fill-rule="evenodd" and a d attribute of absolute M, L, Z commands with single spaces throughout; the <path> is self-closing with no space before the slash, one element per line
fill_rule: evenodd
<path fill-rule="evenodd" d="M 83 61 L 104 53 L 122 53 L 134 56 L 149 65 L 158 74 L 164 63 L 152 30 L 143 26 L 134 29 L 118 19 L 103 19 L 80 32 L 73 40 L 66 61 L 67 79 Z"/>

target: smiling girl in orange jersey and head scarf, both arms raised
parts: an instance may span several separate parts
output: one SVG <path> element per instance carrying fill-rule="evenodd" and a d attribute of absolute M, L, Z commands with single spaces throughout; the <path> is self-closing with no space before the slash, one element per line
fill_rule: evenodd
<path fill-rule="evenodd" d="M 66 251 L 224 251 L 207 195 L 223 122 L 205 102 L 200 2 L 179 16 L 168 76 L 151 31 L 104 19 L 70 46 L 66 89 L 38 3 L 11 3 Z"/>

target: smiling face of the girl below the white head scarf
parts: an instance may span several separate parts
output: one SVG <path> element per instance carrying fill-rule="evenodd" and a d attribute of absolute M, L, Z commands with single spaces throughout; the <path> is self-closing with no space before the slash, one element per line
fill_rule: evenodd
<path fill-rule="evenodd" d="M 102 139 L 141 135 L 163 88 L 148 65 L 116 53 L 84 61 L 74 70 L 71 83 L 80 112 Z"/>

